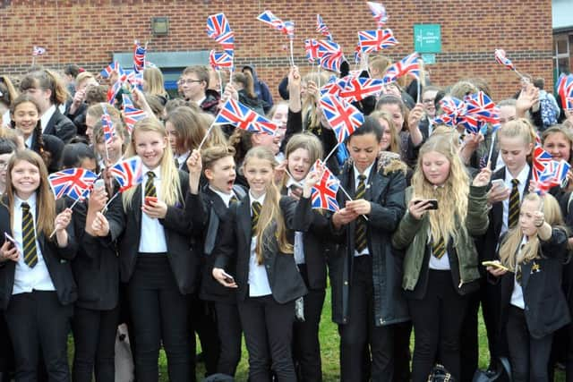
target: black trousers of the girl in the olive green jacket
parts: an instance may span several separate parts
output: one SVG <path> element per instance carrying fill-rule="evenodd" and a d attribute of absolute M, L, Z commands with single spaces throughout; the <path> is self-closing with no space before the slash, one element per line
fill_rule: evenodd
<path fill-rule="evenodd" d="M 458 380 L 459 341 L 468 298 L 458 294 L 449 270 L 428 272 L 423 299 L 408 300 L 415 336 L 412 381 L 427 381 L 438 355 L 440 363 Z"/>

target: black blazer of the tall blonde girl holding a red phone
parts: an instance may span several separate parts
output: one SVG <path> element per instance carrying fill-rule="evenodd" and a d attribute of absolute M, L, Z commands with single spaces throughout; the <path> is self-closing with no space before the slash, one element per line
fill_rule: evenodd
<path fill-rule="evenodd" d="M 159 219 L 165 229 L 167 242 L 167 259 L 183 294 L 192 293 L 195 289 L 198 259 L 192 253 L 191 222 L 185 215 L 184 197 L 189 191 L 189 176 L 179 171 L 179 182 L 182 199 L 175 206 L 167 206 L 167 216 Z M 119 267 L 121 280 L 124 283 L 132 278 L 137 262 L 141 238 L 141 188 L 136 186 L 133 192 L 131 208 L 124 212 L 124 202 L 120 196 L 114 199 L 109 211 L 109 235 L 104 241 L 117 241 L 119 247 Z"/>

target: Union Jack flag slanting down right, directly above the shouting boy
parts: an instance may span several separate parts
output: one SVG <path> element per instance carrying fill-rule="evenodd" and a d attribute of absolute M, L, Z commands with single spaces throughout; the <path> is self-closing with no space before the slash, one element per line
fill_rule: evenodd
<path fill-rule="evenodd" d="M 264 132 L 274 135 L 278 125 L 269 121 L 266 117 L 258 115 L 252 109 L 244 106 L 233 98 L 227 99 L 227 102 L 218 112 L 215 122 L 217 124 L 230 123 L 239 129 L 247 132 Z"/>

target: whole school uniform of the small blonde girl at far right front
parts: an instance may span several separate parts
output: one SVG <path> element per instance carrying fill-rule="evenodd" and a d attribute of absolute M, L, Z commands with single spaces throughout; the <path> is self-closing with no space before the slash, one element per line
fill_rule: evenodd
<path fill-rule="evenodd" d="M 516 382 L 547 381 L 552 334 L 570 321 L 561 290 L 567 234 L 552 229 L 540 239 L 539 257 L 500 278 L 500 325 L 506 327 L 511 374 Z"/>

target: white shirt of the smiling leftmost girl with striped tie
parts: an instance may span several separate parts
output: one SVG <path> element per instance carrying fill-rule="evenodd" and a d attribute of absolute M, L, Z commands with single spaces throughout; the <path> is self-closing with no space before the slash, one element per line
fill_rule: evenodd
<path fill-rule="evenodd" d="M 14 272 L 14 286 L 12 294 L 31 293 L 32 291 L 56 291 L 52 278 L 47 270 L 46 261 L 42 256 L 42 250 L 39 247 L 38 231 L 36 231 L 36 253 L 38 254 L 38 263 L 34 267 L 28 267 L 24 262 L 24 250 L 22 245 L 21 232 L 21 203 L 26 202 L 30 205 L 30 213 L 34 219 L 34 227 L 37 227 L 36 219 L 36 194 L 32 194 L 28 200 L 22 200 L 14 196 L 13 206 L 13 238 L 17 243 L 20 251 L 20 259 L 16 263 Z M 37 229 L 37 228 L 36 228 Z"/>

